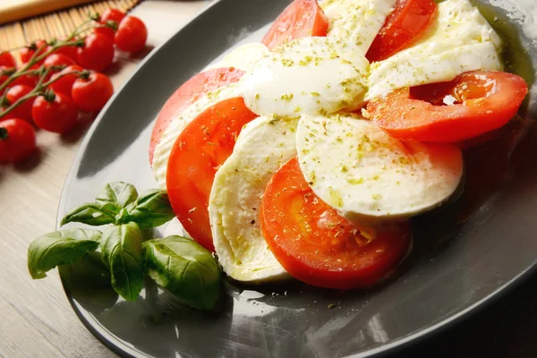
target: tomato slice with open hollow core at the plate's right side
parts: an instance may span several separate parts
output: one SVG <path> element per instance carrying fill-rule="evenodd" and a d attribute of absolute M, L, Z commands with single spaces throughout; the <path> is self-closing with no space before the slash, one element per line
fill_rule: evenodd
<path fill-rule="evenodd" d="M 527 92 L 516 74 L 466 72 L 455 81 L 373 98 L 364 115 L 401 141 L 456 142 L 507 124 Z"/>

